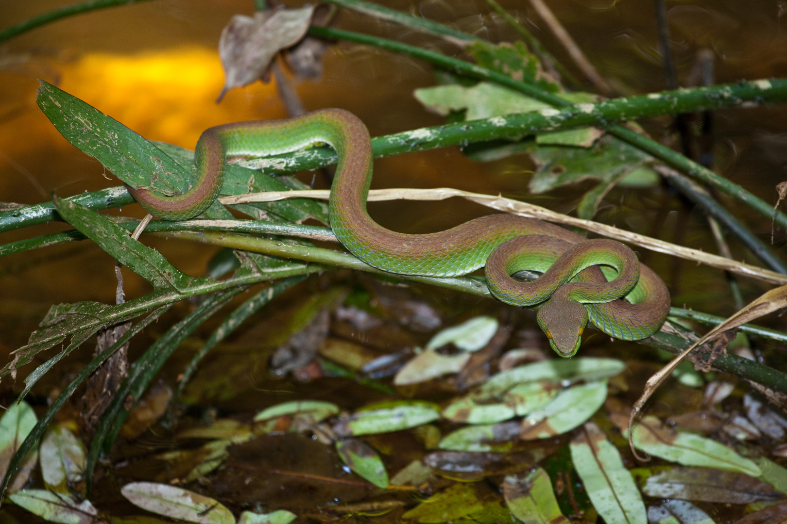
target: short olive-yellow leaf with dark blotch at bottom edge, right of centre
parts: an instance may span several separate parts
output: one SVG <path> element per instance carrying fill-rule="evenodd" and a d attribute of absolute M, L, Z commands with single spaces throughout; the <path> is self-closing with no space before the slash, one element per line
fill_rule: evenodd
<path fill-rule="evenodd" d="M 525 524 L 567 524 L 560 512 L 552 482 L 538 467 L 524 478 L 508 476 L 503 482 L 503 496 L 508 509 Z"/>

